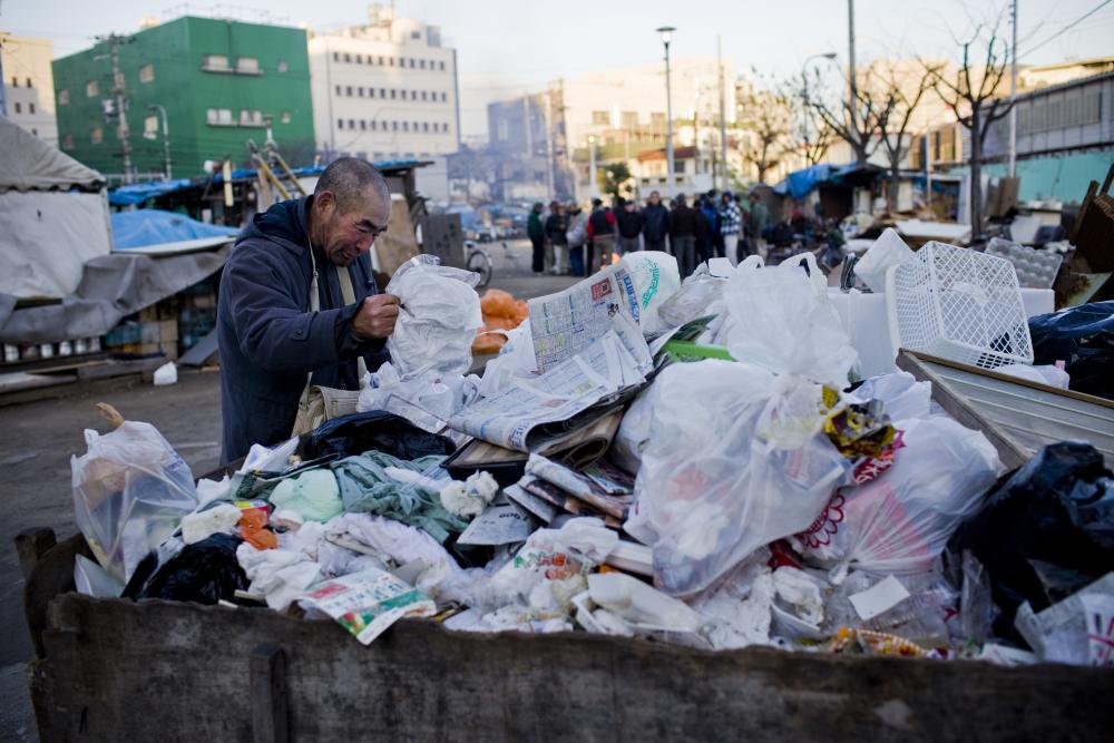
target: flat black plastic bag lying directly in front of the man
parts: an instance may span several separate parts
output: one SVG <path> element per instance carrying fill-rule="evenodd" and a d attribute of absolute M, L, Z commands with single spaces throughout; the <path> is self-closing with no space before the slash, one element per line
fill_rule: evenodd
<path fill-rule="evenodd" d="M 456 451 L 451 440 L 418 428 L 405 418 L 382 410 L 352 413 L 322 423 L 299 444 L 303 460 L 352 457 L 382 451 L 398 459 L 447 457 Z"/>

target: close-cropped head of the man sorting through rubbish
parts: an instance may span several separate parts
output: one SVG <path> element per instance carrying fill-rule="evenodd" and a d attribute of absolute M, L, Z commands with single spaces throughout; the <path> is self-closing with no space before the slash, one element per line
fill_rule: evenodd
<path fill-rule="evenodd" d="M 391 192 L 370 163 L 355 157 L 333 160 L 313 189 L 311 239 L 336 265 L 348 265 L 371 250 L 387 231 Z"/>

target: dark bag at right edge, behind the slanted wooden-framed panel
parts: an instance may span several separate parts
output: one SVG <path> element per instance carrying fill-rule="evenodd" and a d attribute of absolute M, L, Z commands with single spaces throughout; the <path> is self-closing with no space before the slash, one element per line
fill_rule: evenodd
<path fill-rule="evenodd" d="M 1029 317 L 1033 363 L 1065 363 L 1069 387 L 1114 400 L 1114 300 Z"/>

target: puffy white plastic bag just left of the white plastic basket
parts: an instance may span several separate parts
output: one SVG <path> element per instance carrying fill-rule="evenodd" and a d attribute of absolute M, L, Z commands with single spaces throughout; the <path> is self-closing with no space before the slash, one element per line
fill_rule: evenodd
<path fill-rule="evenodd" d="M 717 341 L 733 358 L 779 374 L 847 387 L 859 355 L 811 253 L 773 267 L 747 257 L 727 280 L 723 301 L 727 316 Z"/>

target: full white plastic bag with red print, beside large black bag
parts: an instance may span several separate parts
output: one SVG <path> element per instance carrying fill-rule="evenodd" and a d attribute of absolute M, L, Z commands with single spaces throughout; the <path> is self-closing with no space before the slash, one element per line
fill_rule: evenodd
<path fill-rule="evenodd" d="M 937 416 L 895 424 L 903 448 L 877 479 L 841 489 L 797 537 L 805 555 L 879 574 L 931 565 L 1001 469 L 979 431 Z"/>

